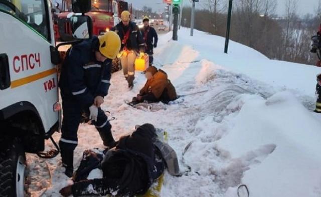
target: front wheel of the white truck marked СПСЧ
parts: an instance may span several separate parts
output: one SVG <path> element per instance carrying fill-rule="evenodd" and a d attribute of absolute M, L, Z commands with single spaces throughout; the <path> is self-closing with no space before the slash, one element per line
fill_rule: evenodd
<path fill-rule="evenodd" d="M 14 143 L 0 151 L 0 197 L 30 196 L 28 187 L 26 153 Z"/>

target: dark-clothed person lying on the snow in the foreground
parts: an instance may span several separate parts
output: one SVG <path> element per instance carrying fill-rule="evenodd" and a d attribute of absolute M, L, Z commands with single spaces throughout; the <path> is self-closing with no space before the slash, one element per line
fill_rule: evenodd
<path fill-rule="evenodd" d="M 157 137 L 154 126 L 136 127 L 131 135 L 121 137 L 115 147 L 103 154 L 86 150 L 73 176 L 74 184 L 62 188 L 60 193 L 63 196 L 134 196 L 144 194 L 165 168 L 170 174 L 178 175 L 176 153 Z M 103 177 L 87 179 L 96 168 L 102 170 Z"/>

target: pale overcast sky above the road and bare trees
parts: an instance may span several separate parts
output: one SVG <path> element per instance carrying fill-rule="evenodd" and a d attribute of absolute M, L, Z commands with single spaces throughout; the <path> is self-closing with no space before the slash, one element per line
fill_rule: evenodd
<path fill-rule="evenodd" d="M 200 0 L 200 3 L 206 2 L 207 0 Z M 153 11 L 163 11 L 165 5 L 163 4 L 163 0 L 127 0 L 127 2 L 132 3 L 134 8 L 142 8 L 143 6 L 153 8 Z M 184 5 L 191 5 L 190 0 L 184 0 Z M 228 2 L 228 0 L 226 0 Z M 282 16 L 285 10 L 285 2 L 286 0 L 277 0 L 277 13 Z M 317 7 L 318 0 L 298 0 L 298 14 L 303 16 L 305 14 L 315 14 L 315 8 Z M 197 5 L 200 7 L 200 5 Z"/>

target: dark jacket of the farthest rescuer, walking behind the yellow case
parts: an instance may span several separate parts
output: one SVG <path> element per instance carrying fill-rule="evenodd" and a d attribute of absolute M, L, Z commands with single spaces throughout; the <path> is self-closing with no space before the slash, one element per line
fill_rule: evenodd
<path fill-rule="evenodd" d="M 152 54 L 152 50 L 154 47 L 157 47 L 158 42 L 158 36 L 155 29 L 153 27 L 148 26 L 147 28 L 142 28 L 140 31 L 145 42 L 145 52 L 148 54 Z"/>

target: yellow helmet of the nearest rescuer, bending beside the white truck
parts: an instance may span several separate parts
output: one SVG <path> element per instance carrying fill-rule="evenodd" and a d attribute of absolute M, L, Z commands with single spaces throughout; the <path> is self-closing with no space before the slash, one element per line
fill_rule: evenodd
<path fill-rule="evenodd" d="M 115 32 L 106 32 L 98 36 L 99 52 L 109 59 L 115 59 L 120 51 L 120 38 Z"/>

